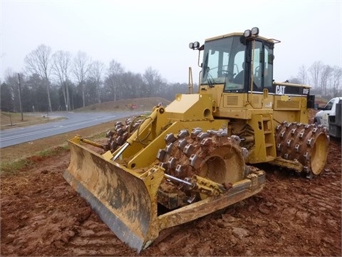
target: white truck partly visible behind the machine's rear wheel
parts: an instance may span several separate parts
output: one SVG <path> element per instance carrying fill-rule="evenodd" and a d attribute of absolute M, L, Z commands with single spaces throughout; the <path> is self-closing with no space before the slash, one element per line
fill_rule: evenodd
<path fill-rule="evenodd" d="M 318 109 L 320 111 L 316 114 L 314 123 L 328 128 L 330 136 L 341 138 L 342 97 L 334 97 L 326 106 Z"/>

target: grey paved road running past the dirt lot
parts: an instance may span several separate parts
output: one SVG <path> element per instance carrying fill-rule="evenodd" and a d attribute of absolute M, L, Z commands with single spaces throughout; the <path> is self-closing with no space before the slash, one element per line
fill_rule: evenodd
<path fill-rule="evenodd" d="M 0 148 L 13 146 L 19 143 L 33 141 L 39 138 L 54 136 L 68 131 L 75 131 L 89 126 L 98 125 L 116 119 L 141 114 L 140 112 L 96 112 L 96 113 L 73 113 L 57 112 L 48 114 L 49 117 L 65 117 L 66 119 L 51 121 L 46 124 L 26 126 L 16 129 L 0 131 Z"/>

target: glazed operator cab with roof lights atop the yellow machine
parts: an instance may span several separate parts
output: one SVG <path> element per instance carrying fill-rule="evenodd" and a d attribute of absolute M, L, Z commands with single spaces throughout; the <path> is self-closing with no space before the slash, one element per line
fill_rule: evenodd
<path fill-rule="evenodd" d="M 274 41 L 258 36 L 259 29 L 207 39 L 203 46 L 200 85 L 224 85 L 224 92 L 248 93 L 273 90 Z"/>

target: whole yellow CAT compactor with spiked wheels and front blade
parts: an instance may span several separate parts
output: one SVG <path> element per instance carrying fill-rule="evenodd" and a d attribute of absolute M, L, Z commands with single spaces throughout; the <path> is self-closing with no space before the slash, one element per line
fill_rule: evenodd
<path fill-rule="evenodd" d="M 261 191 L 266 179 L 257 163 L 317 176 L 327 131 L 308 124 L 309 86 L 273 81 L 277 42 L 253 28 L 191 43 L 202 56 L 199 91 L 118 121 L 105 145 L 71 139 L 64 178 L 140 252 L 161 231 Z"/>

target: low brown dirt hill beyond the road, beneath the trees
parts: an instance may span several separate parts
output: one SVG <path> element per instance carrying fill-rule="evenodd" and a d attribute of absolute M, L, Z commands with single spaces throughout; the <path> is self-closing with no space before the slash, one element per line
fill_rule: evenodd
<path fill-rule="evenodd" d="M 126 111 L 130 109 L 149 111 L 159 103 L 170 104 L 169 100 L 161 97 L 146 97 L 139 99 L 125 99 L 118 101 L 108 101 L 100 104 L 92 104 L 83 108 L 75 109 L 74 111 Z"/>

